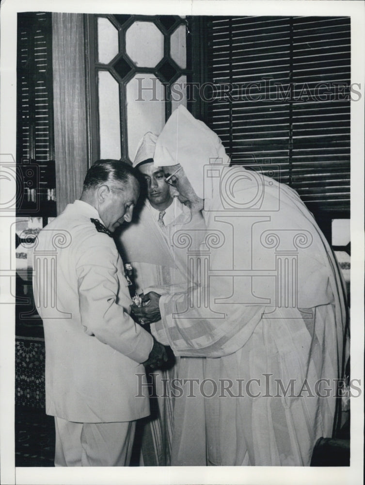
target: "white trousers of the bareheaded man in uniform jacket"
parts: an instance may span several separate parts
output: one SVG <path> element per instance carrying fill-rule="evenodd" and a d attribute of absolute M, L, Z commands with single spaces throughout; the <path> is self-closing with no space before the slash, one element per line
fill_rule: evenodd
<path fill-rule="evenodd" d="M 75 423 L 55 417 L 55 467 L 126 467 L 136 421 Z"/>

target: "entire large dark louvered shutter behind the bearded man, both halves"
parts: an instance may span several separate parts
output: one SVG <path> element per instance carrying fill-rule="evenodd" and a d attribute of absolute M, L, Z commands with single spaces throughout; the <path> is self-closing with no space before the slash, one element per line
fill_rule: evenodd
<path fill-rule="evenodd" d="M 206 32 L 221 88 L 205 121 L 232 162 L 278 165 L 319 218 L 349 215 L 349 18 L 209 17 Z"/>

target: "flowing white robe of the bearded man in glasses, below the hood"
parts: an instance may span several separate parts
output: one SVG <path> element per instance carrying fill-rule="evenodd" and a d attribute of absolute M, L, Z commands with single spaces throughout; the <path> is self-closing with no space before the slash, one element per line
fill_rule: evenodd
<path fill-rule="evenodd" d="M 308 466 L 317 438 L 333 432 L 341 275 L 295 191 L 243 167 L 220 170 L 205 201 L 197 288 L 162 295 L 151 329 L 175 355 L 206 357 L 209 464 Z"/>

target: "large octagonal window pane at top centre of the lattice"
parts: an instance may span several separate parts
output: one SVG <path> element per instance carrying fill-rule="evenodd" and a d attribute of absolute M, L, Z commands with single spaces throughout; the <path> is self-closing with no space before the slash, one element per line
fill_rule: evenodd
<path fill-rule="evenodd" d="M 126 33 L 126 50 L 140 67 L 154 67 L 163 57 L 163 34 L 152 22 L 134 22 Z"/>

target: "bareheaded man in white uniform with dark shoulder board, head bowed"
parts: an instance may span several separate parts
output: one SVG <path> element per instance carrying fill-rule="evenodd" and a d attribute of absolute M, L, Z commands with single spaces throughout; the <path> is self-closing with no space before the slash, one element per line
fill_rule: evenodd
<path fill-rule="evenodd" d="M 127 280 L 112 239 L 130 222 L 139 190 L 129 165 L 95 162 L 80 200 L 38 236 L 33 287 L 45 331 L 55 466 L 128 465 L 136 420 L 150 412 L 147 392 L 135 397 L 141 374 L 145 379 L 141 363 L 167 360 L 164 347 L 129 316 Z M 50 299 L 49 288 L 55 289 Z"/>

